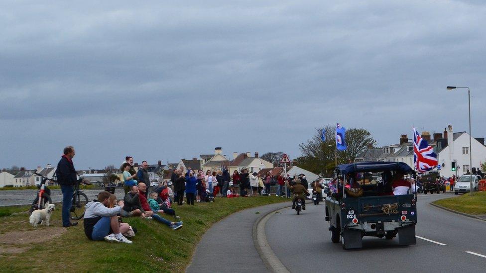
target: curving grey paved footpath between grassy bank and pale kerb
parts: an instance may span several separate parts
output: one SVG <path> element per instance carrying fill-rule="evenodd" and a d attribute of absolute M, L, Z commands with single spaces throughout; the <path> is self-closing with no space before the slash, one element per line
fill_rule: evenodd
<path fill-rule="evenodd" d="M 253 225 L 265 213 L 291 204 L 249 208 L 215 223 L 201 238 L 186 272 L 269 272 L 253 243 Z"/>

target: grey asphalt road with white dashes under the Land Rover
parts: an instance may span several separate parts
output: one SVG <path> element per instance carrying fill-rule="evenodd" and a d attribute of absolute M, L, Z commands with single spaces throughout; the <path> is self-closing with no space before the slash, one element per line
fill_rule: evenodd
<path fill-rule="evenodd" d="M 325 205 L 307 201 L 301 215 L 286 208 L 275 213 L 265 231 L 275 255 L 290 272 L 486 272 L 486 221 L 454 214 L 429 203 L 451 194 L 419 195 L 417 244 L 363 238 L 363 249 L 333 244 Z M 467 252 L 473 252 L 484 257 Z"/>

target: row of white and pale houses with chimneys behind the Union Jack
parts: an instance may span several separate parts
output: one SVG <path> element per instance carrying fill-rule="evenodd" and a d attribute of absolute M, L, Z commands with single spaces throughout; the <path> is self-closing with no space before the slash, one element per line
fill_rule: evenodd
<path fill-rule="evenodd" d="M 441 175 L 451 177 L 456 175 L 452 171 L 452 162 L 457 162 L 457 175 L 466 174 L 471 167 L 480 168 L 486 161 L 485 138 L 472 138 L 472 163 L 470 165 L 469 134 L 467 132 L 454 132 L 452 125 L 444 128 L 443 133 L 423 131 L 421 137 L 434 147 L 434 152 L 438 156 L 441 166 Z M 404 162 L 413 168 L 413 139 L 408 135 L 400 136 L 398 144 L 386 145 L 380 148 L 368 146 L 368 149 L 357 156 L 355 162 L 363 161 L 387 161 Z"/>

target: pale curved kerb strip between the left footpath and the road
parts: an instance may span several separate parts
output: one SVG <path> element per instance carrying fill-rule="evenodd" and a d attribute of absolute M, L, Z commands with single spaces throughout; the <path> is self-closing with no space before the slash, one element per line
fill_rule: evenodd
<path fill-rule="evenodd" d="M 260 255 L 263 264 L 271 272 L 290 273 L 290 271 L 282 264 L 280 259 L 275 255 L 270 244 L 266 239 L 265 224 L 270 217 L 278 210 L 290 207 L 290 205 L 274 209 L 261 215 L 253 225 L 253 243 L 258 254 Z"/>

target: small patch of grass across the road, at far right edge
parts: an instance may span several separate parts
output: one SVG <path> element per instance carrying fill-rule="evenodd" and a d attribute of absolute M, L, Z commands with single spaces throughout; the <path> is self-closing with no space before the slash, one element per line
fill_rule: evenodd
<path fill-rule="evenodd" d="M 459 197 L 440 199 L 434 204 L 468 214 L 486 214 L 486 191 L 474 192 L 473 196 L 465 193 Z"/>

